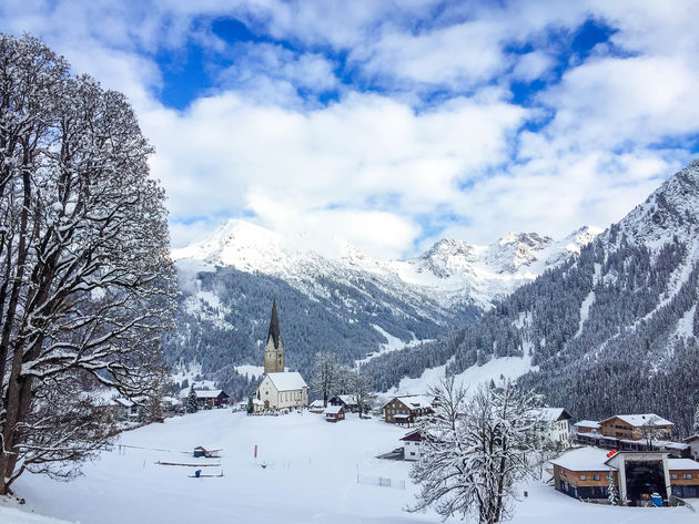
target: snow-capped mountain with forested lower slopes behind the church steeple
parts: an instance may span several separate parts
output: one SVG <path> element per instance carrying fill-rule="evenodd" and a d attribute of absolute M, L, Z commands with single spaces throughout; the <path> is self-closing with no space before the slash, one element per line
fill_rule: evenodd
<path fill-rule="evenodd" d="M 229 220 L 173 251 L 181 296 L 166 358 L 179 368 L 197 362 L 234 395 L 246 394 L 247 380 L 234 367 L 262 362 L 276 297 L 291 369 L 307 372 L 320 350 L 347 364 L 365 361 L 473 322 L 597 233 L 582 228 L 558 242 L 509 234 L 489 246 L 440 240 L 419 257 L 379 261 L 346 243 L 341 256 L 330 257 Z"/>

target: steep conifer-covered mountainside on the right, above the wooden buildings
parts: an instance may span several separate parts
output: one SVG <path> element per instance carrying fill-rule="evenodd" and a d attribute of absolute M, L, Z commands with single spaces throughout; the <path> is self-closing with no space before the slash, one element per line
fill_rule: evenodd
<path fill-rule="evenodd" d="M 658 412 L 690 429 L 699 402 L 699 162 L 663 183 L 577 259 L 547 270 L 446 338 L 379 357 L 377 388 L 449 361 L 460 372 L 530 356 L 526 386 L 578 419 Z M 634 391 L 630 395 L 629 391 Z"/>

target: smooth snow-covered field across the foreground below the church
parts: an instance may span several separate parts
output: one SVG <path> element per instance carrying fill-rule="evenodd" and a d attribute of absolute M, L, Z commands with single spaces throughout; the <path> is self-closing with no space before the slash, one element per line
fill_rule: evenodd
<path fill-rule="evenodd" d="M 199 412 L 123 433 L 121 450 L 116 445 L 102 453 L 101 460 L 87 464 L 84 475 L 72 483 L 22 476 L 14 489 L 27 504 L 10 507 L 0 503 L 0 522 L 440 522 L 434 513 L 404 511 L 415 491 L 408 480 L 409 463 L 375 459 L 397 448 L 404 433 L 401 428 L 379 420 L 358 420 L 354 414 L 331 424 L 307 412 L 284 417 Z M 200 444 L 221 446 L 221 459 L 192 459 L 190 450 Z M 255 444 L 257 459 L 253 458 Z M 224 476 L 190 479 L 194 468 L 156 465 L 156 461 L 220 463 L 201 470 L 214 474 L 223 470 Z M 394 484 L 405 481 L 405 489 L 357 483 L 357 475 L 392 479 Z M 517 503 L 515 524 L 699 523 L 699 514 L 687 508 L 595 506 L 539 482 L 526 489 L 529 496 Z"/>

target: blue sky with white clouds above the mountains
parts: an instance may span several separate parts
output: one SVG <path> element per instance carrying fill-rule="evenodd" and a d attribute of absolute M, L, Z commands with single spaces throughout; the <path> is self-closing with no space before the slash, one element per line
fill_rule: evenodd
<path fill-rule="evenodd" d="M 377 258 L 606 227 L 699 151 L 699 2 L 3 0 L 126 94 L 173 247 L 239 218 Z"/>

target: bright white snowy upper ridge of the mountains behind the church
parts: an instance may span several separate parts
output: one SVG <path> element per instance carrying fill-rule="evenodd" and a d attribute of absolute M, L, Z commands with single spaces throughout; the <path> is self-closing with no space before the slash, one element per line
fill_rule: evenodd
<path fill-rule="evenodd" d="M 255 224 L 231 219 L 206 239 L 173 249 L 172 256 L 184 278 L 192 269 L 231 267 L 282 278 L 317 298 L 327 295 L 318 287 L 318 277 L 346 284 L 352 276 L 364 276 L 407 300 L 427 297 L 444 308 L 468 304 L 487 309 L 494 300 L 579 254 L 599 233 L 588 226 L 557 242 L 536 233 L 509 233 L 488 246 L 445 239 L 419 257 L 381 261 L 346 242 L 342 256 L 323 256 Z"/>

